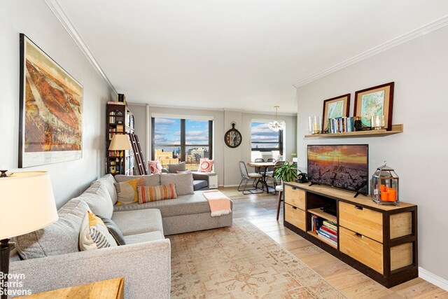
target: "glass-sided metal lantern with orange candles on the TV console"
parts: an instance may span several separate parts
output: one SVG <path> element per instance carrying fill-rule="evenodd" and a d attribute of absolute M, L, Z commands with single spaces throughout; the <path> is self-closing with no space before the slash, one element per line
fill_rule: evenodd
<path fill-rule="evenodd" d="M 378 204 L 395 204 L 398 205 L 398 175 L 392 167 L 384 165 L 377 168 L 372 175 L 372 183 L 370 185 L 372 200 Z"/>

